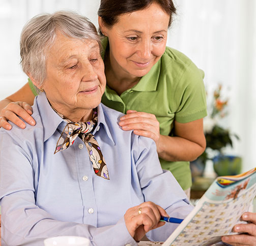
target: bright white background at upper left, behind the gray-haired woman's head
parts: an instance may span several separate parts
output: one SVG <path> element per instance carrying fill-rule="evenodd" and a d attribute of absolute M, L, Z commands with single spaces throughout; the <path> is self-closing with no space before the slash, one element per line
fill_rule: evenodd
<path fill-rule="evenodd" d="M 99 3 L 99 0 L 1 0 L 0 99 L 18 90 L 27 80 L 19 65 L 19 37 L 29 19 L 41 13 L 72 10 L 97 24 Z"/>

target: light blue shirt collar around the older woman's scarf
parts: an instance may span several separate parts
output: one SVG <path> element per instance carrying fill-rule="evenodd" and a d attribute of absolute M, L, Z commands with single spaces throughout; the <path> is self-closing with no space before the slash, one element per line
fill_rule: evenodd
<path fill-rule="evenodd" d="M 60 127 L 62 128 L 61 130 L 63 130 L 67 123 L 58 114 L 56 114 L 55 111 L 51 108 L 44 92 L 41 92 L 37 96 L 36 100 L 37 100 L 37 106 L 38 106 L 38 110 L 39 110 L 43 128 L 44 128 L 44 142 L 45 142 L 54 134 L 54 132 L 58 129 L 60 125 L 61 125 Z M 100 124 L 104 125 L 104 127 L 102 128 L 105 129 L 107 136 L 111 140 L 112 144 L 115 145 L 115 142 L 113 141 L 113 137 L 108 129 L 101 104 L 99 104 L 98 106 L 98 123 L 93 131 L 93 134 L 95 134 Z"/>

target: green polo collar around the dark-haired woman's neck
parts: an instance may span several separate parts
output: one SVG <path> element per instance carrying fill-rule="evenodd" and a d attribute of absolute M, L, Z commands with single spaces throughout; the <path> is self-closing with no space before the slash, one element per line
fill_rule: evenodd
<path fill-rule="evenodd" d="M 108 38 L 105 37 L 101 41 L 102 44 L 102 52 L 101 57 L 104 60 L 105 52 L 108 47 Z M 138 84 L 133 86 L 131 90 L 134 91 L 156 91 L 157 84 L 160 76 L 161 69 L 161 59 L 150 69 L 149 73 L 145 76 L 141 77 Z"/>

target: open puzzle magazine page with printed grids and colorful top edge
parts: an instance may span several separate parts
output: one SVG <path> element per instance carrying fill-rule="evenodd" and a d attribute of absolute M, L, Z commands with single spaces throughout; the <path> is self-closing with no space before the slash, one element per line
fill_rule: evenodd
<path fill-rule="evenodd" d="M 238 177 L 236 177 L 238 178 Z M 244 212 L 250 211 L 256 196 L 256 168 L 241 174 L 235 182 L 223 185 L 217 178 L 192 212 L 169 236 L 162 246 L 208 246 L 221 241 L 232 231 Z"/>

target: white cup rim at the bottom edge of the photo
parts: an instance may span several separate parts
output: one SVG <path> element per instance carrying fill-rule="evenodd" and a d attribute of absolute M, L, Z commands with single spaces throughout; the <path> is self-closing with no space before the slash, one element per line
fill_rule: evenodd
<path fill-rule="evenodd" d="M 89 246 L 90 240 L 80 236 L 56 236 L 44 240 L 44 246 Z"/>

